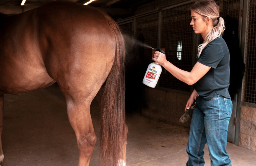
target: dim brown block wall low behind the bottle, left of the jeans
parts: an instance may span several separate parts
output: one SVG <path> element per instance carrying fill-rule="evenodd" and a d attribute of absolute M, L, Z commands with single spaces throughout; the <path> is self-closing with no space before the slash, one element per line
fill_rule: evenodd
<path fill-rule="evenodd" d="M 158 121 L 189 127 L 190 121 L 184 124 L 179 122 L 180 117 L 184 113 L 189 96 L 189 92 L 172 92 L 144 87 L 144 99 L 141 113 L 143 116 Z"/>

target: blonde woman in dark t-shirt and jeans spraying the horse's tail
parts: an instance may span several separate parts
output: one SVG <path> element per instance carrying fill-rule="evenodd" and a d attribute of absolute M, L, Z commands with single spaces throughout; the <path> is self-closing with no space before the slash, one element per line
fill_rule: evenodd
<path fill-rule="evenodd" d="M 226 151 L 228 122 L 232 102 L 228 94 L 229 51 L 221 35 L 225 29 L 219 6 L 212 0 L 196 2 L 191 8 L 192 26 L 204 42 L 198 47 L 196 63 L 190 72 L 181 70 L 156 51 L 152 58 L 174 77 L 194 85 L 186 107 L 194 107 L 187 144 L 187 166 L 204 165 L 204 146 L 207 143 L 211 165 L 229 166 Z M 196 105 L 192 106 L 196 100 Z"/>

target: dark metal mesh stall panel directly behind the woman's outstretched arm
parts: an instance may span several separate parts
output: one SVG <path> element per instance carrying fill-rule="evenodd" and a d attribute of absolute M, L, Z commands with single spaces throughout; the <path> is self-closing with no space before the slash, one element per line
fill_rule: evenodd
<path fill-rule="evenodd" d="M 193 4 L 183 3 L 162 11 L 161 48 L 165 48 L 166 58 L 182 70 L 192 69 L 193 29 L 189 7 Z M 159 79 L 159 87 L 190 92 L 190 86 L 181 82 L 164 70 Z"/>

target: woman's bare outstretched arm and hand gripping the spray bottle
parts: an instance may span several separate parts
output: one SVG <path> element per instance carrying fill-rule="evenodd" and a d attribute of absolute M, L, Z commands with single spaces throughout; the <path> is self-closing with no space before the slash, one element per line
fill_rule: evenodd
<path fill-rule="evenodd" d="M 197 62 L 190 72 L 181 70 L 169 61 L 167 61 L 165 55 L 159 51 L 156 51 L 156 53 L 154 54 L 154 58 L 152 59 L 161 66 L 163 66 L 174 77 L 181 80 L 182 82 L 185 82 L 188 85 L 195 84 L 211 69 L 211 67 Z"/>

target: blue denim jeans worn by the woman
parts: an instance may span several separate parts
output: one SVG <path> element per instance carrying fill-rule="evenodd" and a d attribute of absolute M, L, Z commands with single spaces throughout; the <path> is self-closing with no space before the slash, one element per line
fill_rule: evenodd
<path fill-rule="evenodd" d="M 204 145 L 208 144 L 211 166 L 230 166 L 226 151 L 228 122 L 232 113 L 232 101 L 219 94 L 211 100 L 199 96 L 193 110 L 187 144 L 186 166 L 204 165 Z"/>

